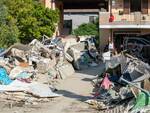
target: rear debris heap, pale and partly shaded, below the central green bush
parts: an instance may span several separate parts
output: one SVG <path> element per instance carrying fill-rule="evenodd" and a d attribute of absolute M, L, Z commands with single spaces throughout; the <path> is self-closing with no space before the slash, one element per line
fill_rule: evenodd
<path fill-rule="evenodd" d="M 73 58 L 73 66 L 77 70 L 98 66 L 100 54 L 97 51 L 96 43 L 91 38 L 80 38 L 76 44 L 70 45 L 67 53 Z M 81 40 L 82 39 L 82 40 Z M 84 39 L 84 40 L 83 40 Z"/>

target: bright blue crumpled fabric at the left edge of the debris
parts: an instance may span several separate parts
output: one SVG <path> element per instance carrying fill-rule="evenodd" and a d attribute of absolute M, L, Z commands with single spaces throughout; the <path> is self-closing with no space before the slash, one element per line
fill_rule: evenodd
<path fill-rule="evenodd" d="M 9 78 L 6 69 L 0 68 L 0 84 L 9 85 L 12 80 Z"/>

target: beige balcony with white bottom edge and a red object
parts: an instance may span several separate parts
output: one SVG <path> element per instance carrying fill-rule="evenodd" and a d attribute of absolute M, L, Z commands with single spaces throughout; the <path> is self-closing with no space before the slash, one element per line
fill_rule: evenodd
<path fill-rule="evenodd" d="M 113 13 L 114 21 L 109 22 L 110 13 L 100 12 L 100 28 L 150 28 L 150 15 L 135 12 L 131 14 Z"/>

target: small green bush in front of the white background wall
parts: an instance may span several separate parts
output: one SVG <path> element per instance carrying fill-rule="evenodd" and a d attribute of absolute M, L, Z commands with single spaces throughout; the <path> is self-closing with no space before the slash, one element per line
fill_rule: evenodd
<path fill-rule="evenodd" d="M 73 31 L 74 35 L 84 36 L 84 35 L 95 35 L 98 36 L 98 21 L 95 23 L 84 23 L 81 24 L 77 29 Z"/>

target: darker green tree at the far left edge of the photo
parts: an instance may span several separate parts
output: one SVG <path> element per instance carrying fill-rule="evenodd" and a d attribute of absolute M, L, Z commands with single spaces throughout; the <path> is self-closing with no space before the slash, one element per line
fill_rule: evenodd
<path fill-rule="evenodd" d="M 0 47 L 7 48 L 19 42 L 19 30 L 15 19 L 9 14 L 7 7 L 0 2 Z"/>

